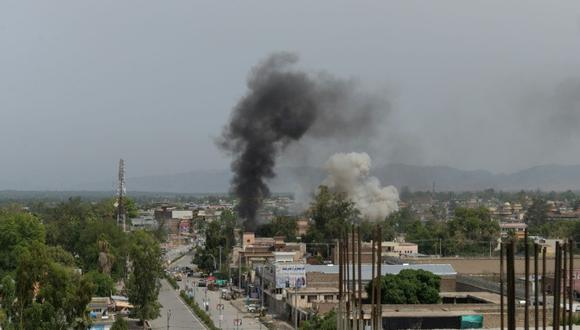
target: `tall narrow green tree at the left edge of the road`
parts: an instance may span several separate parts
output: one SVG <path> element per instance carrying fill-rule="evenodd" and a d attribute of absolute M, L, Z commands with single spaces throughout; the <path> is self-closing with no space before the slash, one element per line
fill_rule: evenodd
<path fill-rule="evenodd" d="M 161 248 L 149 233 L 136 231 L 131 237 L 129 258 L 132 272 L 127 280 L 129 302 L 134 317 L 144 324 L 160 315 L 159 278 L 162 275 Z"/>

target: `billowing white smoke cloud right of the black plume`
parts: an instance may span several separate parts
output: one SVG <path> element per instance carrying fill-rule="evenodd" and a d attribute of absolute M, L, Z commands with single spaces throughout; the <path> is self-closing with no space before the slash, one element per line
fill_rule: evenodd
<path fill-rule="evenodd" d="M 371 158 L 367 153 L 337 153 L 325 164 L 328 176 L 322 182 L 329 189 L 345 193 L 361 215 L 382 220 L 399 210 L 399 192 L 393 186 L 381 187 L 379 179 L 369 176 Z"/>

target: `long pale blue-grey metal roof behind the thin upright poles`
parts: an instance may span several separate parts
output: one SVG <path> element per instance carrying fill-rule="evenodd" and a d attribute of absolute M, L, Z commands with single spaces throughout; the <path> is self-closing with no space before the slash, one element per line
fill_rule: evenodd
<path fill-rule="evenodd" d="M 357 273 L 358 269 L 355 268 Z M 381 274 L 398 274 L 403 269 L 422 269 L 439 276 L 457 275 L 457 272 L 450 264 L 409 264 L 409 265 L 382 265 Z M 349 271 L 352 269 L 349 267 Z M 319 272 L 327 274 L 337 274 L 338 265 L 306 265 L 306 272 Z M 363 264 L 361 269 L 362 280 L 370 280 L 372 272 L 371 264 Z"/>

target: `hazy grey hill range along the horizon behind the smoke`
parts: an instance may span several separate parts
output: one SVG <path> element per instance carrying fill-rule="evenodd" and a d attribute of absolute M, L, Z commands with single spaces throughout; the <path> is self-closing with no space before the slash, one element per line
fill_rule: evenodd
<path fill-rule="evenodd" d="M 319 168 L 280 168 L 270 182 L 274 192 L 295 191 L 297 186 L 313 187 L 325 177 Z M 448 166 L 414 166 L 389 164 L 375 168 L 372 174 L 384 185 L 412 190 L 470 191 L 496 190 L 580 190 L 580 165 L 544 165 L 511 174 L 494 174 L 484 170 L 466 171 Z M 129 191 L 171 193 L 222 193 L 229 191 L 229 170 L 205 170 L 188 173 L 135 177 L 127 179 Z M 111 183 L 91 183 L 71 190 L 111 190 Z"/>

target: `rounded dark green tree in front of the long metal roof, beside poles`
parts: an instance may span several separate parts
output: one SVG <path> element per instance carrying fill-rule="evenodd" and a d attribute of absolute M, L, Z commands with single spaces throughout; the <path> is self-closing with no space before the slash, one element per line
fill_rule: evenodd
<path fill-rule="evenodd" d="M 441 278 L 422 269 L 405 269 L 399 274 L 381 277 L 381 303 L 383 304 L 436 304 L 439 303 Z M 367 284 L 368 297 L 371 283 Z"/>

